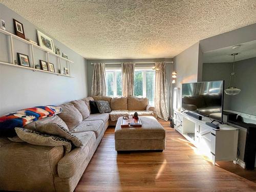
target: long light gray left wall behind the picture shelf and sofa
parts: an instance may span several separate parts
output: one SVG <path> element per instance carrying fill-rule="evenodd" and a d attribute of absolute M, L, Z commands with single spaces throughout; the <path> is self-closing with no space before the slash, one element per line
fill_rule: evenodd
<path fill-rule="evenodd" d="M 0 4 L 0 18 L 5 20 L 6 30 L 11 33 L 14 33 L 13 18 L 23 23 L 26 38 L 37 42 L 36 29 L 38 28 L 3 4 Z M 71 75 L 74 78 L 0 65 L 0 115 L 36 105 L 58 105 L 87 96 L 86 59 L 61 42 L 54 38 L 53 40 L 60 51 L 68 54 L 69 59 L 74 61 L 71 64 Z M 0 44 L 0 60 L 11 62 L 6 47 L 7 36 L 2 33 Z M 14 51 L 15 56 L 16 52 L 19 52 L 29 55 L 31 60 L 29 46 L 24 42 L 14 40 Z M 44 52 L 35 49 L 34 54 L 36 64 L 39 64 L 39 59 L 46 60 Z M 17 60 L 17 56 L 15 59 Z M 55 64 L 55 70 L 57 69 L 56 60 L 56 57 L 50 57 L 50 61 Z M 61 62 L 62 67 L 65 65 L 66 62 Z"/>

